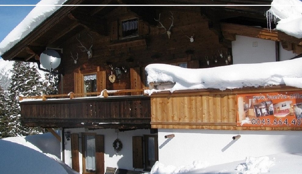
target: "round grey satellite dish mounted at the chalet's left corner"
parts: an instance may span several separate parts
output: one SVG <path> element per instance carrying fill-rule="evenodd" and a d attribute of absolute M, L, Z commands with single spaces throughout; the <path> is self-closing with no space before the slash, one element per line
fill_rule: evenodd
<path fill-rule="evenodd" d="M 48 70 L 56 69 L 61 63 L 61 57 L 53 49 L 47 49 L 40 55 L 40 63 Z"/>

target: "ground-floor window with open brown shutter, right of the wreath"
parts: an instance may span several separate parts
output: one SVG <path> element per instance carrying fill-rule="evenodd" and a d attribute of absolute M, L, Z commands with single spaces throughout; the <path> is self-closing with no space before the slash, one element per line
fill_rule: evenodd
<path fill-rule="evenodd" d="M 132 137 L 133 167 L 150 171 L 158 161 L 157 135 Z"/>

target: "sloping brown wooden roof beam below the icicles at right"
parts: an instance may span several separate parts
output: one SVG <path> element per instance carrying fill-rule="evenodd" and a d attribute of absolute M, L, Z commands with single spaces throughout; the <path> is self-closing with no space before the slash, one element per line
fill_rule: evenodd
<path fill-rule="evenodd" d="M 222 33 L 236 34 L 253 38 L 268 39 L 272 41 L 286 41 L 297 45 L 302 45 L 302 39 L 289 36 L 282 31 L 268 30 L 267 28 L 245 26 L 239 24 L 221 23 Z"/>

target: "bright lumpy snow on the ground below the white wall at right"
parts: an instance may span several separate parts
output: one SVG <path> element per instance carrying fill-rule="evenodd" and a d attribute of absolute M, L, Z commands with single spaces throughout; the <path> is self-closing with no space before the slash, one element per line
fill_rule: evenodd
<path fill-rule="evenodd" d="M 219 158 L 219 157 L 217 157 Z M 164 173 L 273 173 L 300 174 L 302 170 L 302 153 L 281 153 L 262 157 L 246 157 L 241 161 L 234 161 L 221 165 L 208 166 L 207 162 L 194 161 L 188 166 L 165 166 L 156 162 L 151 172 L 146 174 Z"/>

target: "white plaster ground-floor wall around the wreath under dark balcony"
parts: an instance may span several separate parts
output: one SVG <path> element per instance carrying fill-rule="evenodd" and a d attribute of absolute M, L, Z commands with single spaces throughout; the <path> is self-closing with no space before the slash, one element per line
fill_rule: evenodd
<path fill-rule="evenodd" d="M 84 128 L 77 129 L 65 129 L 65 132 L 78 133 L 81 137 L 81 132 L 86 132 Z M 98 135 L 104 135 L 104 160 L 105 160 L 105 171 L 106 167 L 116 167 L 120 169 L 128 170 L 142 170 L 134 169 L 132 167 L 132 136 L 143 136 L 151 135 L 149 129 L 138 129 L 132 131 L 116 132 L 115 129 L 98 129 L 98 130 L 89 130 L 87 132 L 95 132 Z M 123 143 L 123 148 L 118 154 L 114 151 L 112 144 L 117 137 Z M 82 146 L 81 138 L 79 138 L 79 161 L 80 161 L 80 172 L 82 169 Z M 71 162 L 71 144 L 70 141 L 65 143 L 65 163 L 72 167 Z"/>

